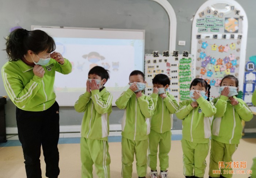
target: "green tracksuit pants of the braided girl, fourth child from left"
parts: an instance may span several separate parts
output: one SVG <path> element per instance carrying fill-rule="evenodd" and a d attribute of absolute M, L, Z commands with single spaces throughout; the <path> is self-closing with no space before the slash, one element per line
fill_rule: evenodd
<path fill-rule="evenodd" d="M 181 139 L 183 151 L 183 174 L 185 176 L 204 177 L 206 157 L 209 153 L 209 143 L 193 143 Z"/>

